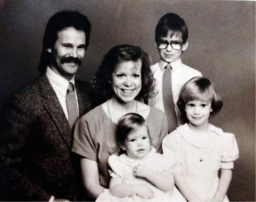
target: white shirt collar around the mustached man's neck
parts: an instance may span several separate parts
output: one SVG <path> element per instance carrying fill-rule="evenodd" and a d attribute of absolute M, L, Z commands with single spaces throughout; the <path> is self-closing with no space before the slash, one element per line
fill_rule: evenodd
<path fill-rule="evenodd" d="M 73 83 L 73 85 L 75 86 L 75 75 L 72 77 L 72 79 L 68 81 L 65 78 L 53 72 L 51 68 L 49 68 L 49 66 L 47 66 L 46 69 L 46 76 L 48 77 L 50 83 L 57 89 L 57 91 L 62 96 L 66 96 L 69 82 Z"/>

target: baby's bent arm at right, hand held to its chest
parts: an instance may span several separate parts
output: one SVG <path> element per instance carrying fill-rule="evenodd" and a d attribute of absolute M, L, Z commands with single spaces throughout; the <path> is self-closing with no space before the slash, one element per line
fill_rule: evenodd
<path fill-rule="evenodd" d="M 150 168 L 139 164 L 134 168 L 134 175 L 146 178 L 148 181 L 163 191 L 173 190 L 174 177 L 168 171 L 157 173 Z"/>

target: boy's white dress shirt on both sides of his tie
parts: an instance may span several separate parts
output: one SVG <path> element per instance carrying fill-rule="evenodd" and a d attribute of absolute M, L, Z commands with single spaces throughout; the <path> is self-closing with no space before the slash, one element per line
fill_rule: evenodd
<path fill-rule="evenodd" d="M 151 70 L 154 74 L 154 78 L 156 79 L 156 90 L 158 94 L 156 97 L 148 99 L 148 105 L 154 106 L 162 111 L 164 111 L 163 105 L 163 94 L 162 94 L 162 84 L 163 84 L 163 73 L 164 67 L 166 66 L 166 62 L 160 60 L 160 62 L 151 66 Z M 173 99 L 175 103 L 175 111 L 178 118 L 178 124 L 182 124 L 180 111 L 177 106 L 177 101 L 179 99 L 179 93 L 182 85 L 187 82 L 189 79 L 202 76 L 201 72 L 190 68 L 189 66 L 182 63 L 181 59 L 178 59 L 172 63 L 172 91 L 173 91 Z"/>

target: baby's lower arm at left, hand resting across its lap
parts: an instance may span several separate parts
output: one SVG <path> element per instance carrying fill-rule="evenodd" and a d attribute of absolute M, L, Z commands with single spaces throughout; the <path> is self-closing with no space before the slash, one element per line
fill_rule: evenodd
<path fill-rule="evenodd" d="M 121 177 L 112 177 L 110 180 L 110 193 L 113 196 L 122 198 L 126 196 L 139 195 L 145 199 L 151 199 L 154 197 L 154 192 L 151 188 L 144 184 L 139 185 L 125 185 L 122 182 Z"/>

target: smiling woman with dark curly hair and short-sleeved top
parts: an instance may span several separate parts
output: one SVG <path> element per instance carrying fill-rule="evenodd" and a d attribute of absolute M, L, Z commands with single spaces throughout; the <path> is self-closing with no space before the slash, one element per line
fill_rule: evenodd
<path fill-rule="evenodd" d="M 119 119 L 127 113 L 141 115 L 158 152 L 168 124 L 162 111 L 141 102 L 153 96 L 155 80 L 149 56 L 139 47 L 113 47 L 104 56 L 92 83 L 103 103 L 76 123 L 72 151 L 81 156 L 84 187 L 96 199 L 109 188 L 108 158 L 118 149 L 115 130 Z"/>

